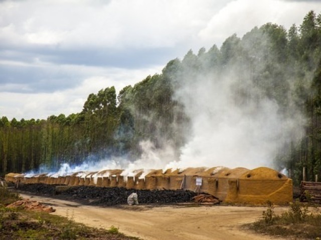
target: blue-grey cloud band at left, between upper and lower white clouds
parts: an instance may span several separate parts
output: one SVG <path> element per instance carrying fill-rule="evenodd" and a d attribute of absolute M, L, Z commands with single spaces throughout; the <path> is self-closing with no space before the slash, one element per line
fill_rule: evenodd
<path fill-rule="evenodd" d="M 161 57 L 158 59 L 158 61 L 161 61 L 161 64 L 159 64 L 156 60 L 154 61 L 153 59 L 149 59 L 148 64 L 144 64 L 145 66 L 141 64 L 136 66 L 134 59 L 137 58 L 138 53 L 129 53 L 128 55 L 120 55 L 118 57 L 115 56 L 114 58 L 105 58 L 105 56 L 100 56 L 104 54 L 99 52 L 96 52 L 96 55 L 93 55 L 92 53 L 87 54 L 88 55 L 84 54 L 83 52 L 74 52 L 73 54 L 69 53 L 68 56 L 66 56 L 66 54 L 59 56 L 59 59 L 73 58 L 75 59 L 74 61 L 57 59 L 51 62 L 42 62 L 36 58 L 31 60 L 30 63 L 26 63 L 24 61 L 18 62 L 12 60 L 0 60 L 0 71 L 2 73 L 0 78 L 0 92 L 6 89 L 8 91 L 8 86 L 20 84 L 24 85 L 25 87 L 10 87 L 11 91 L 50 93 L 58 90 L 77 87 L 84 79 L 93 76 L 107 77 L 110 74 L 110 69 L 119 69 L 118 66 L 124 62 L 128 62 L 126 64 L 128 67 L 123 68 L 123 71 L 125 72 L 130 69 L 130 72 L 134 72 L 134 70 L 139 71 L 139 69 L 142 71 L 144 71 L 143 69 L 153 69 L 154 66 L 161 66 L 168 61 L 167 59 L 164 59 L 164 57 Z M 161 52 L 155 51 L 153 54 L 154 59 L 157 58 L 158 54 L 161 54 Z M 148 54 L 140 52 L 140 57 L 144 58 L 146 55 Z M 97 58 L 94 56 L 97 56 Z M 57 63 L 55 61 L 57 61 Z M 73 65 L 61 65 L 59 62 L 73 62 Z M 77 62 L 78 64 L 75 65 Z M 148 74 L 154 73 L 155 72 Z M 139 80 L 142 80 L 146 76 L 142 76 L 142 78 Z M 129 74 L 127 74 L 127 77 L 129 79 L 135 78 L 135 76 L 130 76 Z M 121 79 L 119 81 L 128 80 Z"/>

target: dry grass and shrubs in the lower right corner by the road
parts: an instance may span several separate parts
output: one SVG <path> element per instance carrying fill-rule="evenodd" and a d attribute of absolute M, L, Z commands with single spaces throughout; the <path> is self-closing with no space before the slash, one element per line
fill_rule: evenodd
<path fill-rule="evenodd" d="M 275 214 L 273 203 L 267 202 L 267 209 L 262 212 L 261 218 L 246 226 L 269 235 L 320 239 L 321 212 L 316 205 L 308 208 L 307 205 L 295 201 L 286 212 Z"/>

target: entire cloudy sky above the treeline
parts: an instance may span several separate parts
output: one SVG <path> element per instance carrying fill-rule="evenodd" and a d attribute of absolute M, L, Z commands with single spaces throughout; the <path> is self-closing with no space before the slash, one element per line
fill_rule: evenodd
<path fill-rule="evenodd" d="M 321 1 L 0 1 L 0 117 L 81 112 L 90 93 L 118 93 L 255 26 L 299 26 L 310 10 Z"/>

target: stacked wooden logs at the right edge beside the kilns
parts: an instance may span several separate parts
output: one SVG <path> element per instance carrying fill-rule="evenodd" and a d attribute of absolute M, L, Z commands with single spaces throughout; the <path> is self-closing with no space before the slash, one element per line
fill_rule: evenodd
<path fill-rule="evenodd" d="M 321 203 L 321 182 L 302 181 L 300 185 L 300 200 Z"/>

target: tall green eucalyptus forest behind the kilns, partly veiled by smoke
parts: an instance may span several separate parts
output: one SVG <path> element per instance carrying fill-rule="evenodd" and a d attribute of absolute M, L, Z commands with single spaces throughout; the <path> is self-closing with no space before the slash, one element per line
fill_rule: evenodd
<path fill-rule="evenodd" d="M 192 123 L 184 93 L 177 90 L 201 77 L 215 81 L 226 75 L 235 79 L 230 97 L 236 106 L 269 99 L 284 125 L 296 120 L 271 159 L 274 166 L 290 169 L 295 184 L 302 167 L 309 180 L 321 175 L 321 14 L 313 11 L 288 30 L 267 23 L 242 38 L 230 36 L 220 48 L 190 50 L 169 61 L 162 73 L 119 93 L 102 88 L 87 97 L 79 113 L 41 120 L 0 116 L 0 175 L 110 156 L 134 160 L 142 140 L 155 148 L 170 143 L 179 157 Z"/>

